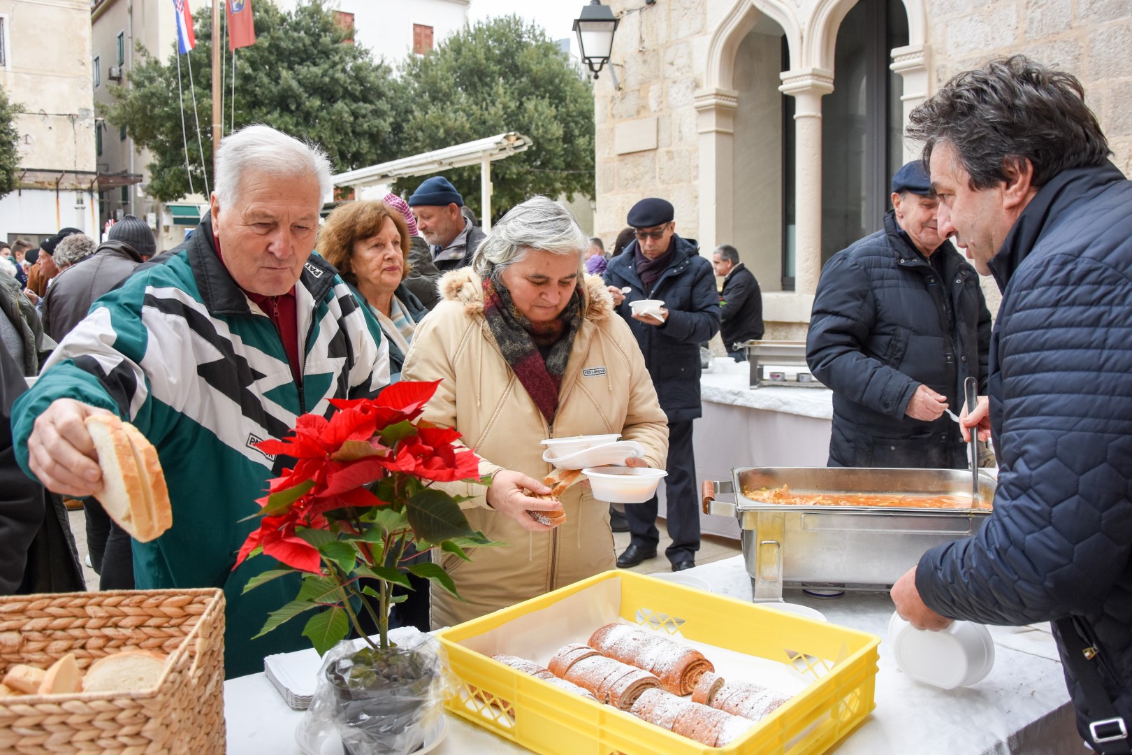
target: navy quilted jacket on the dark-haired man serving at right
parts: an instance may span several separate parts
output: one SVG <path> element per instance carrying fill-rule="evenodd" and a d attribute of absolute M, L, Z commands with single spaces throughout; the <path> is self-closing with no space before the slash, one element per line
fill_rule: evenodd
<path fill-rule="evenodd" d="M 990 266 L 1004 286 L 990 343 L 994 513 L 924 554 L 916 586 L 958 619 L 1080 617 L 1132 721 L 1132 182 L 1110 163 L 1060 173 Z M 1066 681 L 1080 729 L 1084 701 L 1067 670 Z"/>

